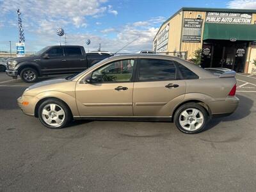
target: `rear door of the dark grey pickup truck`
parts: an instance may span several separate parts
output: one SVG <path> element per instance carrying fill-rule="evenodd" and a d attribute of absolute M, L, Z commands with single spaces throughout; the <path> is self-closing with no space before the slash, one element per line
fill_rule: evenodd
<path fill-rule="evenodd" d="M 87 68 L 86 57 L 81 47 L 65 47 L 65 66 L 69 72 L 81 72 Z"/>

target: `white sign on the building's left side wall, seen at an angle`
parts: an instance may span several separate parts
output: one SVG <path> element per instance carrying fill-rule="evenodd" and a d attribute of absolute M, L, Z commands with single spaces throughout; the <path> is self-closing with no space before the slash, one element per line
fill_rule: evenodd
<path fill-rule="evenodd" d="M 157 35 L 156 52 L 164 52 L 168 47 L 169 24 Z"/>

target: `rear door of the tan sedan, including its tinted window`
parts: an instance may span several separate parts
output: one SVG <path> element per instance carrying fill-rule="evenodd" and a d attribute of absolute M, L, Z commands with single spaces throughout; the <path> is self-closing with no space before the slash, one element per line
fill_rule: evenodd
<path fill-rule="evenodd" d="M 175 63 L 170 60 L 138 60 L 133 92 L 134 116 L 168 117 L 184 99 L 186 81 L 179 80 Z"/>

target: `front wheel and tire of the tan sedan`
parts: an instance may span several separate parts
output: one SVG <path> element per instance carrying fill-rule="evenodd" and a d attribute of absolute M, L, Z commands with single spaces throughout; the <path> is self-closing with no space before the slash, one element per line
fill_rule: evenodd
<path fill-rule="evenodd" d="M 61 100 L 47 99 L 38 108 L 38 118 L 45 127 L 61 129 L 70 123 L 72 113 Z"/>

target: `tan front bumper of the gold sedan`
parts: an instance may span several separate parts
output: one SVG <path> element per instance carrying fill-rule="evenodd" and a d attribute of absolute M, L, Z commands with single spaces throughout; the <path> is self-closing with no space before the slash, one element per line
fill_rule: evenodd
<path fill-rule="evenodd" d="M 22 97 L 17 99 L 17 103 L 23 113 L 29 116 L 35 116 L 35 107 L 38 100 L 37 97 L 22 95 Z M 28 102 L 28 104 L 24 105 L 24 102 Z"/>

